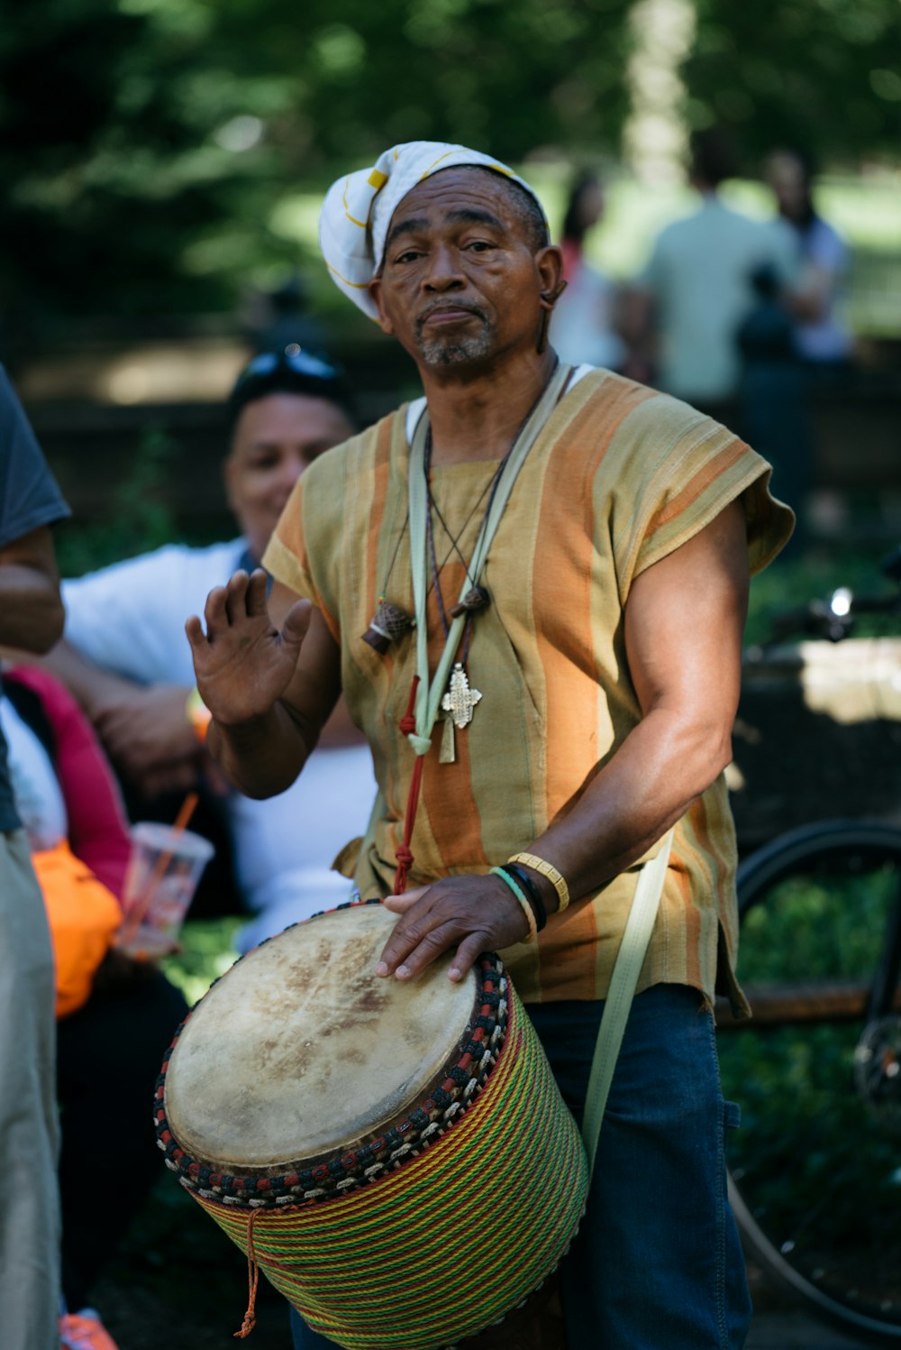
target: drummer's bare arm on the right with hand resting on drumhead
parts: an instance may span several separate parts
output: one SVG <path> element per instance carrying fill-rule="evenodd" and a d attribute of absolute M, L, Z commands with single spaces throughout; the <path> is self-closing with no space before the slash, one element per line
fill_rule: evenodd
<path fill-rule="evenodd" d="M 626 645 L 642 721 L 529 849 L 558 868 L 573 899 L 595 894 L 639 859 L 728 763 L 747 586 L 738 504 L 634 582 Z M 553 886 L 537 872 L 534 879 L 554 911 Z M 526 932 L 492 876 L 448 878 L 386 905 L 403 918 L 384 948 L 383 975 L 417 975 L 453 946 L 460 975 L 492 942 Z"/>

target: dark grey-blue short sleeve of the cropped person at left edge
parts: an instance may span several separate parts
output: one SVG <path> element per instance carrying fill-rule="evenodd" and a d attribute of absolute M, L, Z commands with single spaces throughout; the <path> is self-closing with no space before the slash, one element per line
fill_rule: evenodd
<path fill-rule="evenodd" d="M 0 548 L 70 514 L 0 366 Z"/>

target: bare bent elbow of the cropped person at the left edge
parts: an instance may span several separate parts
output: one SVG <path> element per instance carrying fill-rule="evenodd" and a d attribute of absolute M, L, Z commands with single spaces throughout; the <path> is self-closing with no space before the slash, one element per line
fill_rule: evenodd
<path fill-rule="evenodd" d="M 63 622 L 53 535 L 42 525 L 0 548 L 0 644 L 46 652 Z"/>

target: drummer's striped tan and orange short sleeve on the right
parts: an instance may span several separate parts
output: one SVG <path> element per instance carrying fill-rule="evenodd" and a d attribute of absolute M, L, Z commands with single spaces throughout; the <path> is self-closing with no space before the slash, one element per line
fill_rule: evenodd
<path fill-rule="evenodd" d="M 610 528 L 624 603 L 635 576 L 688 543 L 736 498 L 751 572 L 778 554 L 794 522 L 769 490 L 770 466 L 726 427 L 664 394 L 623 427 Z M 608 466 L 610 467 L 610 466 Z"/>

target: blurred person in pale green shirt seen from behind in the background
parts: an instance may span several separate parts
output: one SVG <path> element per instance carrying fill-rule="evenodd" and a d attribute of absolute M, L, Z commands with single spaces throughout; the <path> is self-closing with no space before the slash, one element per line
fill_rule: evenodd
<path fill-rule="evenodd" d="M 788 279 L 790 251 L 770 225 L 722 201 L 720 185 L 735 177 L 736 162 L 719 130 L 695 132 L 691 155 L 689 181 L 701 196 L 700 208 L 658 235 L 630 294 L 627 335 L 647 362 L 634 371 L 639 378 L 734 421 L 724 405 L 738 393 L 736 332 L 755 301 L 753 277 L 769 263 Z"/>

